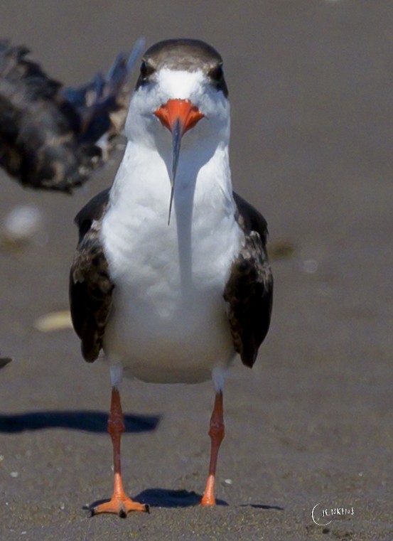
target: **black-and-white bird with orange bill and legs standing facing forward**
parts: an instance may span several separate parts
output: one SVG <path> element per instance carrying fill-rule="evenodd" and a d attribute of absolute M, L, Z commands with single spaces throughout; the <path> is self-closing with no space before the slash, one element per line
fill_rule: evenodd
<path fill-rule="evenodd" d="M 215 505 L 225 435 L 223 388 L 237 355 L 252 367 L 269 330 L 273 277 L 267 222 L 232 190 L 230 102 L 222 57 L 178 38 L 141 60 L 111 188 L 77 214 L 72 323 L 88 362 L 103 350 L 112 394 L 112 498 L 92 514 L 146 511 L 122 481 L 122 378 L 212 380 L 210 464 L 200 504 Z"/>

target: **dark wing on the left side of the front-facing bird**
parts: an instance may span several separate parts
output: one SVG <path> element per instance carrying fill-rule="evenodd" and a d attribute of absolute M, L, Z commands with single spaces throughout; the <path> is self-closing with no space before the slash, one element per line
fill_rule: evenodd
<path fill-rule="evenodd" d="M 99 240 L 108 199 L 109 190 L 99 193 L 75 218 L 79 242 L 70 270 L 71 318 L 82 341 L 82 355 L 90 363 L 97 359 L 102 348 L 114 288 Z"/>

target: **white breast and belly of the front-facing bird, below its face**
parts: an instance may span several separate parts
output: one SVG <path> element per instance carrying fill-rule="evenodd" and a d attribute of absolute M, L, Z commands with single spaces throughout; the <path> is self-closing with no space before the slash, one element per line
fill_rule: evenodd
<path fill-rule="evenodd" d="M 171 224 L 158 152 L 127 146 L 102 224 L 115 284 L 104 336 L 110 360 L 151 382 L 197 382 L 235 355 L 222 298 L 243 234 L 227 149 L 203 164 L 182 151 Z"/>

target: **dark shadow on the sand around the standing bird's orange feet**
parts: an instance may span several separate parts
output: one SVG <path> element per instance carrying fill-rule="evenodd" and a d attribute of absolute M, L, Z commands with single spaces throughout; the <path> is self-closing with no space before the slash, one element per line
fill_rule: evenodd
<path fill-rule="evenodd" d="M 149 508 L 162 507 L 162 508 L 185 508 L 199 505 L 202 500 L 202 495 L 194 491 L 173 491 L 166 488 L 146 488 L 141 491 L 133 499 L 139 503 L 146 503 Z M 91 505 L 85 506 L 85 509 L 92 511 L 100 503 L 106 503 L 106 500 L 97 500 Z M 228 505 L 225 500 L 216 500 L 217 505 Z"/>

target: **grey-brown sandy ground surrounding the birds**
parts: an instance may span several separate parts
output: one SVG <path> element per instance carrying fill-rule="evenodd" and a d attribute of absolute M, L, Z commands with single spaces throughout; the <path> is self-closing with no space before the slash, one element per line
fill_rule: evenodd
<path fill-rule="evenodd" d="M 0 539 L 392 540 L 392 48 L 389 0 L 19 1 L 0 36 L 83 82 L 141 34 L 205 39 L 225 59 L 232 174 L 271 232 L 274 317 L 259 362 L 225 391 L 217 496 L 200 508 L 212 385 L 124 385 L 124 481 L 151 514 L 90 518 L 109 497 L 109 376 L 71 330 L 72 198 L 1 174 L 0 215 L 33 203 L 44 232 L 0 253 Z M 283 242 L 294 247 L 280 250 Z M 353 514 L 322 523 L 327 508 Z"/>

